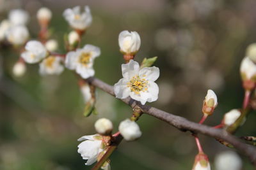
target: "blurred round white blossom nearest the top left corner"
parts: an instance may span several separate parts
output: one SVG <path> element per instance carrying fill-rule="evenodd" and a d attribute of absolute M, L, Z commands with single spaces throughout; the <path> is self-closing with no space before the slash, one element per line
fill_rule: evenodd
<path fill-rule="evenodd" d="M 13 25 L 26 25 L 29 20 L 29 15 L 27 11 L 21 9 L 11 10 L 9 20 Z"/>

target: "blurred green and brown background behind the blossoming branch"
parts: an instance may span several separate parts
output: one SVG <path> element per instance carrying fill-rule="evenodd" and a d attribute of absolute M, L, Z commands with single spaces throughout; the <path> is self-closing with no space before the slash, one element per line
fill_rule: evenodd
<path fill-rule="evenodd" d="M 137 31 L 141 50 L 136 60 L 158 56 L 161 70 L 159 99 L 150 103 L 161 110 L 198 122 L 207 89 L 218 96 L 218 107 L 205 124 L 218 125 L 227 111 L 240 108 L 243 88 L 239 64 L 246 46 L 256 41 L 256 1 L 254 0 L 130 0 L 130 1 L 36 1 L 0 0 L 0 20 L 8 11 L 29 11 L 29 32 L 36 39 L 39 26 L 36 11 L 45 6 L 53 13 L 52 38 L 64 53 L 63 35 L 71 31 L 62 17 L 66 8 L 89 5 L 92 26 L 83 44 L 99 46 L 95 60 L 97 78 L 113 85 L 121 77 L 124 62 L 118 34 Z M 100 117 L 113 121 L 115 130 L 131 115 L 131 108 L 115 97 L 97 90 L 99 115 L 83 116 L 83 97 L 76 77 L 65 70 L 60 76 L 40 76 L 38 64 L 27 66 L 21 78 L 12 74 L 19 52 L 0 51 L 0 169 L 90 169 L 77 153 L 77 139 L 95 134 L 93 124 Z M 251 113 L 237 136 L 255 135 L 255 113 Z M 143 135 L 138 141 L 122 141 L 111 156 L 112 169 L 191 169 L 197 148 L 189 132 L 148 115 L 138 124 Z M 214 169 L 216 155 L 231 150 L 215 139 L 200 135 L 202 146 Z M 249 160 L 243 169 L 253 169 Z"/>

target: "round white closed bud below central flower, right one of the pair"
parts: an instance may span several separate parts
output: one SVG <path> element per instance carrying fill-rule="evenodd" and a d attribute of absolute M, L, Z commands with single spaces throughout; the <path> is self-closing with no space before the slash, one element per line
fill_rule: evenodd
<path fill-rule="evenodd" d="M 141 136 L 139 125 L 129 119 L 122 121 L 118 127 L 118 130 L 126 141 L 134 141 Z"/>

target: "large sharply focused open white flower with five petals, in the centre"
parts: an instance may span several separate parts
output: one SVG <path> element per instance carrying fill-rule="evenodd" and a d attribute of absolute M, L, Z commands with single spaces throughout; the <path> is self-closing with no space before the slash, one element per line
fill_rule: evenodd
<path fill-rule="evenodd" d="M 130 60 L 129 63 L 122 64 L 122 75 L 124 78 L 114 85 L 115 96 L 118 99 L 131 96 L 141 104 L 157 100 L 159 88 L 154 81 L 159 77 L 158 67 L 140 69 L 138 62 Z"/>

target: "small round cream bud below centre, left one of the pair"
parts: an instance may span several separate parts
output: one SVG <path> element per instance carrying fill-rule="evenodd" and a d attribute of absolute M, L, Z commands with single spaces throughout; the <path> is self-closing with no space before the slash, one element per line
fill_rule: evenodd
<path fill-rule="evenodd" d="M 100 118 L 95 122 L 94 127 L 102 135 L 108 135 L 113 130 L 113 124 L 108 118 Z"/>

